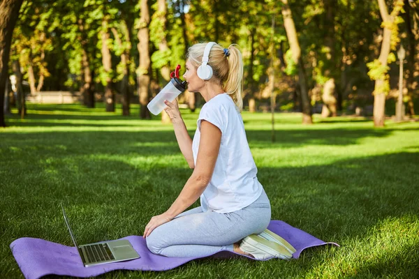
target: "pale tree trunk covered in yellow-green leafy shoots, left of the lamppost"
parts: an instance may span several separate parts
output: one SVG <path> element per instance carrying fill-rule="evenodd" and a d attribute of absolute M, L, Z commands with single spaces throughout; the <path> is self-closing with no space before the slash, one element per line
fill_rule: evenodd
<path fill-rule="evenodd" d="M 395 54 L 390 52 L 396 49 L 399 42 L 397 24 L 401 21 L 398 17 L 402 10 L 404 1 L 395 0 L 394 8 L 389 14 L 385 0 L 377 0 L 380 8 L 381 18 L 383 20 L 382 27 L 383 41 L 381 42 L 381 51 L 378 59 L 367 64 L 369 67 L 368 75 L 375 80 L 374 86 L 374 126 L 383 127 L 385 123 L 385 96 L 390 91 L 388 63 L 395 61 Z"/>

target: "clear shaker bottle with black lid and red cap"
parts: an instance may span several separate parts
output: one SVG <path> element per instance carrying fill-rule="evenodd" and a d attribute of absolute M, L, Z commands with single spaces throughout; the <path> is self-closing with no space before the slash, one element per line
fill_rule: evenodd
<path fill-rule="evenodd" d="M 175 73 L 170 74 L 170 77 L 172 78 L 168 84 L 166 84 L 166 86 L 164 86 L 156 97 L 147 105 L 147 108 L 152 114 L 158 115 L 166 107 L 164 100 L 172 102 L 180 93 L 185 91 L 186 82 L 182 82 L 182 80 L 179 79 L 179 68 L 180 66 L 178 65 Z"/>

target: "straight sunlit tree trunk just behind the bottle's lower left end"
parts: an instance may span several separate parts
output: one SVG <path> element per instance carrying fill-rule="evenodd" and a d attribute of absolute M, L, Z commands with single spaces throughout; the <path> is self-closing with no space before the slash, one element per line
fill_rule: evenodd
<path fill-rule="evenodd" d="M 150 119 L 147 109 L 150 94 L 151 67 L 149 55 L 149 7 L 147 0 L 141 0 L 140 29 L 138 30 L 138 52 L 140 53 L 140 66 L 138 67 L 138 95 L 140 98 L 140 119 Z"/>

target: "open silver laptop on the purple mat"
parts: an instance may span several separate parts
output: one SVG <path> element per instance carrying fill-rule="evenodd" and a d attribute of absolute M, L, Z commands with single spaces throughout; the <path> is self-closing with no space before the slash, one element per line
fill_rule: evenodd
<path fill-rule="evenodd" d="M 64 220 L 73 239 L 74 246 L 77 247 L 80 258 L 84 266 L 96 266 L 98 264 L 108 264 L 110 262 L 122 262 L 128 259 L 138 259 L 140 255 L 134 250 L 133 246 L 127 239 L 102 241 L 91 244 L 77 245 L 73 231 L 71 230 L 66 211 L 63 209 Z"/>

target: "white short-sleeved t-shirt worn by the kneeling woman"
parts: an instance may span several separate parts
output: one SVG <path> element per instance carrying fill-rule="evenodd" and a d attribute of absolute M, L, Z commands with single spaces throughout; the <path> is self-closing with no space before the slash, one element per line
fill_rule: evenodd
<path fill-rule="evenodd" d="M 228 213 L 256 201 L 263 191 L 247 142 L 242 115 L 233 99 L 222 93 L 203 105 L 193 136 L 193 161 L 196 164 L 200 142 L 200 122 L 206 120 L 221 130 L 221 146 L 214 173 L 200 196 L 203 211 Z"/>

